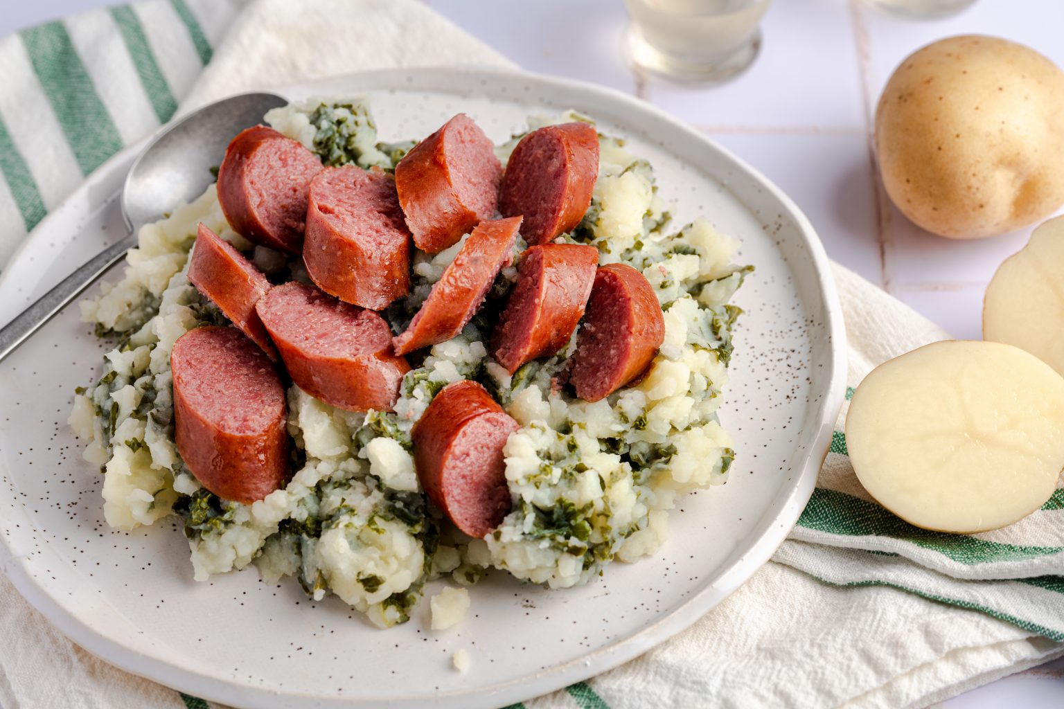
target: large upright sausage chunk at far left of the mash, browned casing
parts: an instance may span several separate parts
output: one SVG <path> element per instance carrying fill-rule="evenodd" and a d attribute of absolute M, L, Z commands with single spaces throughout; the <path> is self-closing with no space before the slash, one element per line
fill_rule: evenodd
<path fill-rule="evenodd" d="M 197 327 L 173 343 L 173 436 L 196 479 L 250 504 L 288 474 L 284 387 L 273 364 L 235 327 Z"/>

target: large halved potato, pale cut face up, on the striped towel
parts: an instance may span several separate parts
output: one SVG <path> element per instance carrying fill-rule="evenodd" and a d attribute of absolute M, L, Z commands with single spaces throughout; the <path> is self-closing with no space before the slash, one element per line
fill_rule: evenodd
<path fill-rule="evenodd" d="M 1038 509 L 1064 468 L 1064 377 L 999 342 L 934 342 L 877 367 L 846 445 L 883 507 L 927 529 L 996 529 Z"/>

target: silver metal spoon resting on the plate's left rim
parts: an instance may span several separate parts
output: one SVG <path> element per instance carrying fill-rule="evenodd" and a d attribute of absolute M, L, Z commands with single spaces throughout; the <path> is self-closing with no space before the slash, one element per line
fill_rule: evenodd
<path fill-rule="evenodd" d="M 262 122 L 270 108 L 287 101 L 275 94 L 239 94 L 188 114 L 162 132 L 133 161 L 119 200 L 130 235 L 65 277 L 57 286 L 0 328 L 0 360 L 118 263 L 136 246 L 136 229 L 190 202 L 211 183 L 233 136 Z"/>

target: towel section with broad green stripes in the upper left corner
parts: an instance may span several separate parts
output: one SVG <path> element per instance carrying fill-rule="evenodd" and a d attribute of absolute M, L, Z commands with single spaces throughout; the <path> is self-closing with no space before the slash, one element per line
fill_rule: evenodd
<path fill-rule="evenodd" d="M 243 0 L 151 0 L 0 38 L 0 269 L 93 170 L 173 116 Z"/>

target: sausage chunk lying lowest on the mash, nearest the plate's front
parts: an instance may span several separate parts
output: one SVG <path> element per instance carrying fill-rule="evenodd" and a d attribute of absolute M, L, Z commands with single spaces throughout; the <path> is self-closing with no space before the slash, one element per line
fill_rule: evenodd
<path fill-rule="evenodd" d="M 520 426 L 476 382 L 448 384 L 414 424 L 414 466 L 429 500 L 470 537 L 511 507 L 502 446 Z"/>

